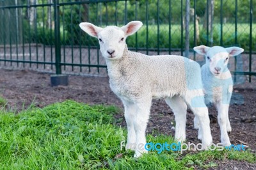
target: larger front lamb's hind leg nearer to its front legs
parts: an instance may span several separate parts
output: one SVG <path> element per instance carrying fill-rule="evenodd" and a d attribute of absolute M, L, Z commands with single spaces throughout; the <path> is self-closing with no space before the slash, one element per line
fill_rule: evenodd
<path fill-rule="evenodd" d="M 180 142 L 185 141 L 187 105 L 184 99 L 178 96 L 167 98 L 165 101 L 166 104 L 171 107 L 175 115 L 175 139 Z"/>

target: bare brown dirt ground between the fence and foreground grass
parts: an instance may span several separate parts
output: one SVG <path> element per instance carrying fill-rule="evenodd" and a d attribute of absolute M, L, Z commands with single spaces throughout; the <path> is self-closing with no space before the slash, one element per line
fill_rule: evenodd
<path fill-rule="evenodd" d="M 256 79 L 253 82 L 234 87 L 234 96 L 230 106 L 229 116 L 232 132 L 229 137 L 232 144 L 246 144 L 249 150 L 256 150 Z M 122 102 L 109 88 L 108 77 L 70 76 L 68 86 L 51 87 L 50 74 L 29 70 L 0 69 L 0 95 L 8 101 L 7 109 L 20 111 L 34 104 L 36 107 L 63 100 L 72 99 L 87 104 L 117 105 L 123 108 Z M 213 143 L 220 142 L 216 109 L 209 109 Z M 116 124 L 125 127 L 124 112 L 116 115 Z M 173 112 L 164 100 L 154 100 L 152 103 L 147 134 L 174 135 L 171 130 L 175 122 Z M 193 114 L 188 111 L 186 122 L 187 139 L 200 143 L 197 130 L 193 129 Z M 256 169 L 256 164 L 236 160 L 218 160 L 216 169 Z M 214 168 L 215 169 L 215 168 Z"/>

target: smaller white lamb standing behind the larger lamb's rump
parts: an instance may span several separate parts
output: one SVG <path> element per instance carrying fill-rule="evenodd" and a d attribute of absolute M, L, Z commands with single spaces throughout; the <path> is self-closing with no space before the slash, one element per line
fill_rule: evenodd
<path fill-rule="evenodd" d="M 228 59 L 237 56 L 244 50 L 239 47 L 223 48 L 220 46 L 206 47 L 200 45 L 194 47 L 198 54 L 205 56 L 205 65 L 202 66 L 202 81 L 205 89 L 205 104 L 214 104 L 218 109 L 218 123 L 221 132 L 221 144 L 230 146 L 227 132 L 231 132 L 228 119 L 228 107 L 233 90 L 233 81 L 228 70 Z M 201 139 L 201 129 L 198 118 L 195 116 L 195 128 L 198 130 L 198 139 Z"/>

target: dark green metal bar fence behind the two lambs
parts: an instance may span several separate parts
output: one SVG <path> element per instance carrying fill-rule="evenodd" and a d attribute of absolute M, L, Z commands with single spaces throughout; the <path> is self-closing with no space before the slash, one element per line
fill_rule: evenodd
<path fill-rule="evenodd" d="M 230 59 L 235 80 L 256 75 L 256 0 L 1 0 L 0 66 L 44 72 L 106 75 L 96 38 L 80 22 L 144 26 L 127 39 L 131 50 L 178 54 L 204 61 L 196 45 L 238 46 L 245 52 Z"/>

